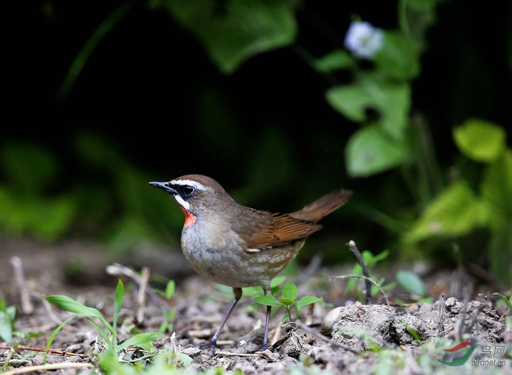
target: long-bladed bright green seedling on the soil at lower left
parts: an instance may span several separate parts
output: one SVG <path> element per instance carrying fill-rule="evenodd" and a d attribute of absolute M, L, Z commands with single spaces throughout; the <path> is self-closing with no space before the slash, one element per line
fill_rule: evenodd
<path fill-rule="evenodd" d="M 144 345 L 163 337 L 163 334 L 160 332 L 145 332 L 135 335 L 130 339 L 122 342 L 121 344 L 117 343 L 117 319 L 119 317 L 119 310 L 121 309 L 121 305 L 124 300 L 124 286 L 121 280 L 119 280 L 116 287 L 116 294 L 114 298 L 114 317 L 112 324 L 110 324 L 103 317 L 98 309 L 84 306 L 67 296 L 48 296 L 46 297 L 46 300 L 63 310 L 69 311 L 70 313 L 76 314 L 77 316 L 83 316 L 89 323 L 96 327 L 99 335 L 106 343 L 106 354 L 114 358 L 118 358 L 119 352 L 129 346 Z M 73 318 L 75 317 L 69 318 L 60 324 L 57 328 L 55 328 L 52 335 L 48 339 L 47 348 L 50 347 L 51 342 L 58 334 L 58 332 Z M 98 319 L 100 323 L 94 321 L 94 318 Z"/>

